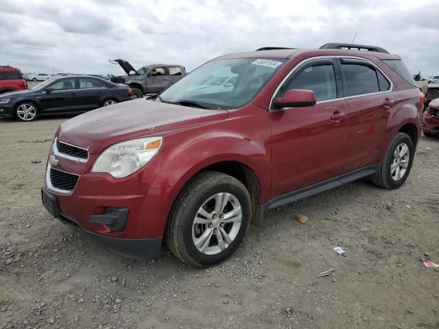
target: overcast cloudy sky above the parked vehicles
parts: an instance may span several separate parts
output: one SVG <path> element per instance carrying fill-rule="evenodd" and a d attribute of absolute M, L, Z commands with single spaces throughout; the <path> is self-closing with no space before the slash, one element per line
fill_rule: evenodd
<path fill-rule="evenodd" d="M 190 71 L 224 53 L 326 42 L 381 46 L 412 73 L 439 74 L 437 0 L 0 0 L 0 65 L 23 72 Z M 438 50 L 438 51 L 436 51 Z"/>

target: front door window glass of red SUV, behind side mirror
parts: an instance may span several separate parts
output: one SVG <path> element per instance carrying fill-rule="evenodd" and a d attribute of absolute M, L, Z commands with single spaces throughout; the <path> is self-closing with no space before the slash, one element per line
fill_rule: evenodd
<path fill-rule="evenodd" d="M 316 93 L 317 101 L 327 101 L 337 98 L 337 84 L 335 82 L 332 64 L 307 66 L 301 69 L 291 80 L 279 90 L 280 93 L 290 89 L 307 89 Z M 276 97 L 281 95 L 276 95 Z"/>

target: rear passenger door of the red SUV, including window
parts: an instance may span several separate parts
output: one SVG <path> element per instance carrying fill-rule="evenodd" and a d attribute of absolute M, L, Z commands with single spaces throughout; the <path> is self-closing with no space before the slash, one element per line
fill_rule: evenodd
<path fill-rule="evenodd" d="M 390 113 L 399 106 L 392 83 L 372 62 L 339 58 L 347 105 L 348 145 L 344 173 L 376 164 Z M 396 113 L 395 113 L 396 114 Z"/>

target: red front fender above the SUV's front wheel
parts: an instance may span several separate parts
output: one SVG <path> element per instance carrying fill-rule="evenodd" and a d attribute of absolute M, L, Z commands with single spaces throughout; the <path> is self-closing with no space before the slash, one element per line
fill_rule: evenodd
<path fill-rule="evenodd" d="M 191 128 L 165 136 L 154 165 L 159 168 L 150 182 L 153 188 L 183 186 L 211 164 L 234 161 L 249 167 L 259 180 L 261 201 L 271 189 L 271 147 L 268 112 Z"/>

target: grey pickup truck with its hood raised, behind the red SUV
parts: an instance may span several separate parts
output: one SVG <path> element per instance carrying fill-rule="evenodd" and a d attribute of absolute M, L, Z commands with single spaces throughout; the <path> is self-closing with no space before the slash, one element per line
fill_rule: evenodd
<path fill-rule="evenodd" d="M 113 76 L 110 81 L 130 86 L 134 99 L 146 94 L 160 93 L 186 75 L 186 70 L 181 65 L 152 64 L 135 70 L 126 60 L 109 60 L 109 62 L 119 64 L 127 74 L 121 77 Z"/>

